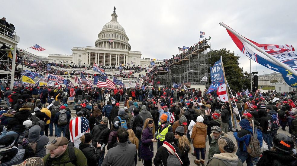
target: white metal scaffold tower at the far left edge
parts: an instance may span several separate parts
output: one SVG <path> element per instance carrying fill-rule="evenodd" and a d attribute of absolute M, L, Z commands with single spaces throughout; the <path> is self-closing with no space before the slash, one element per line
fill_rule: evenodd
<path fill-rule="evenodd" d="M 10 81 L 10 88 L 13 88 L 15 77 L 15 61 L 17 44 L 20 38 L 16 32 L 7 28 L 0 27 L 0 80 Z"/>

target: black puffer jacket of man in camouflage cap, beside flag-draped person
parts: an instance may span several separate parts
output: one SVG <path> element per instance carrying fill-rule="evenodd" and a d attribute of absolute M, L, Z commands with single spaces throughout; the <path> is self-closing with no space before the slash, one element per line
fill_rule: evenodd
<path fill-rule="evenodd" d="M 105 124 L 96 125 L 91 131 L 91 134 L 93 135 L 92 145 L 94 147 L 97 146 L 97 142 L 100 143 L 101 145 L 103 143 L 107 145 L 109 131 L 110 131 L 109 128 L 107 128 L 107 125 Z"/>

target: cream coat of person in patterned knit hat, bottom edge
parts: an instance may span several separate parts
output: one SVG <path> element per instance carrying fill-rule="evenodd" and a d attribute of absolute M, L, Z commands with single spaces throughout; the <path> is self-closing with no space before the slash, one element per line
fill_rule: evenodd
<path fill-rule="evenodd" d="M 215 154 L 207 166 L 243 166 L 241 160 L 235 153 Z"/>

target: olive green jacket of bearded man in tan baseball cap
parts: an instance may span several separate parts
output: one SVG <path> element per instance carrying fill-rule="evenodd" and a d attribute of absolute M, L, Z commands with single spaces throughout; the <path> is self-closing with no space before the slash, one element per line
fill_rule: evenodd
<path fill-rule="evenodd" d="M 85 157 L 85 155 L 82 153 L 82 151 L 80 151 L 77 148 L 74 148 L 74 153 L 76 156 L 76 165 L 72 164 L 70 162 L 70 158 L 69 158 L 69 152 L 68 152 L 69 148 L 67 147 L 66 151 L 59 156 L 58 158 L 53 158 L 52 159 L 52 165 L 63 165 L 63 166 L 87 166 L 87 158 Z M 47 162 L 47 158 L 51 159 L 50 157 L 50 153 L 48 153 L 47 155 L 45 155 L 42 159 L 44 161 L 44 163 Z M 68 162 L 69 161 L 69 162 Z M 60 163 L 60 164 L 59 164 Z M 63 164 L 65 163 L 65 165 Z M 50 161 L 47 162 L 47 165 L 50 164 Z M 45 165 L 45 164 L 44 164 Z M 45 165 L 46 166 L 46 165 Z"/>

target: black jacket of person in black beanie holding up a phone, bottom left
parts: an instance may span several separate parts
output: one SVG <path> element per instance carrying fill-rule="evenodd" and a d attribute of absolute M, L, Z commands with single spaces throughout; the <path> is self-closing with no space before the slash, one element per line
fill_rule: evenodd
<path fill-rule="evenodd" d="M 79 144 L 79 150 L 86 156 L 88 161 L 88 166 L 97 165 L 99 158 L 101 156 L 102 150 L 100 148 L 95 148 L 90 144 Z"/>

